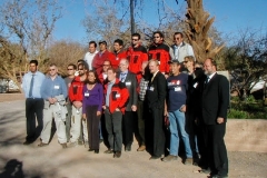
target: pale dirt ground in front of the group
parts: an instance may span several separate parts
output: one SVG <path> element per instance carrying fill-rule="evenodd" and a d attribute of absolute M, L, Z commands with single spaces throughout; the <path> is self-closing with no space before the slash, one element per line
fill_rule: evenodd
<path fill-rule="evenodd" d="M 17 174 L 24 178 L 207 178 L 199 167 L 149 160 L 147 151 L 137 152 L 134 142 L 130 152 L 119 159 L 100 152 L 88 152 L 85 146 L 62 149 L 53 136 L 48 147 L 38 148 L 39 141 L 23 146 L 26 137 L 24 100 L 20 93 L 0 95 L 0 178 Z M 246 141 L 246 138 L 244 139 Z M 227 142 L 226 142 L 227 145 Z M 266 178 L 266 152 L 228 151 L 230 178 Z"/>

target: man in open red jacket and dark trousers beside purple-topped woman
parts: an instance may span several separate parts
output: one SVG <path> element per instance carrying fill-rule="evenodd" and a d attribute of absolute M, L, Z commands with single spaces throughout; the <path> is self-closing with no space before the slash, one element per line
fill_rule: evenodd
<path fill-rule="evenodd" d="M 116 69 L 108 69 L 109 82 L 105 85 L 105 119 L 108 132 L 109 149 L 105 154 L 113 154 L 113 158 L 121 156 L 122 130 L 121 120 L 128 102 L 129 92 L 126 85 L 116 78 Z"/>

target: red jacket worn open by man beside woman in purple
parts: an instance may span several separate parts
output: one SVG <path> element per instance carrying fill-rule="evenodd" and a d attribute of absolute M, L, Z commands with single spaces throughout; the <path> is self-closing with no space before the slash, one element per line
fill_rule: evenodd
<path fill-rule="evenodd" d="M 105 85 L 105 96 L 109 97 L 109 110 L 112 113 L 116 108 L 119 108 L 122 113 L 125 113 L 125 108 L 127 106 L 127 102 L 129 100 L 129 92 L 126 88 L 126 85 L 119 79 L 116 79 L 111 92 L 109 96 L 107 96 L 108 85 Z M 106 102 L 106 99 L 105 99 Z M 106 105 L 106 103 L 105 103 Z"/>

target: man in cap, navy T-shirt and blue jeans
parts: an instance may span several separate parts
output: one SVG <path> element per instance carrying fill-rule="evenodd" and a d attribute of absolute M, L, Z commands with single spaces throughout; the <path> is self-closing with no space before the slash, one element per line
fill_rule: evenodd
<path fill-rule="evenodd" d="M 179 139 L 182 139 L 186 150 L 186 164 L 192 164 L 192 152 L 189 144 L 189 136 L 186 132 L 186 99 L 188 75 L 180 72 L 180 63 L 172 60 L 170 63 L 171 76 L 167 78 L 167 116 L 169 117 L 170 150 L 164 161 L 177 160 L 179 150 Z"/>

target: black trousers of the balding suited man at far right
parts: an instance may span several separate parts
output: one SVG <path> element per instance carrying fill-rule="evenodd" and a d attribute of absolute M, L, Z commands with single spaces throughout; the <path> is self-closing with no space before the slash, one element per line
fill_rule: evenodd
<path fill-rule="evenodd" d="M 208 165 L 211 172 L 219 176 L 228 175 L 228 157 L 225 145 L 226 123 L 205 125 L 205 139 L 208 148 Z"/>

